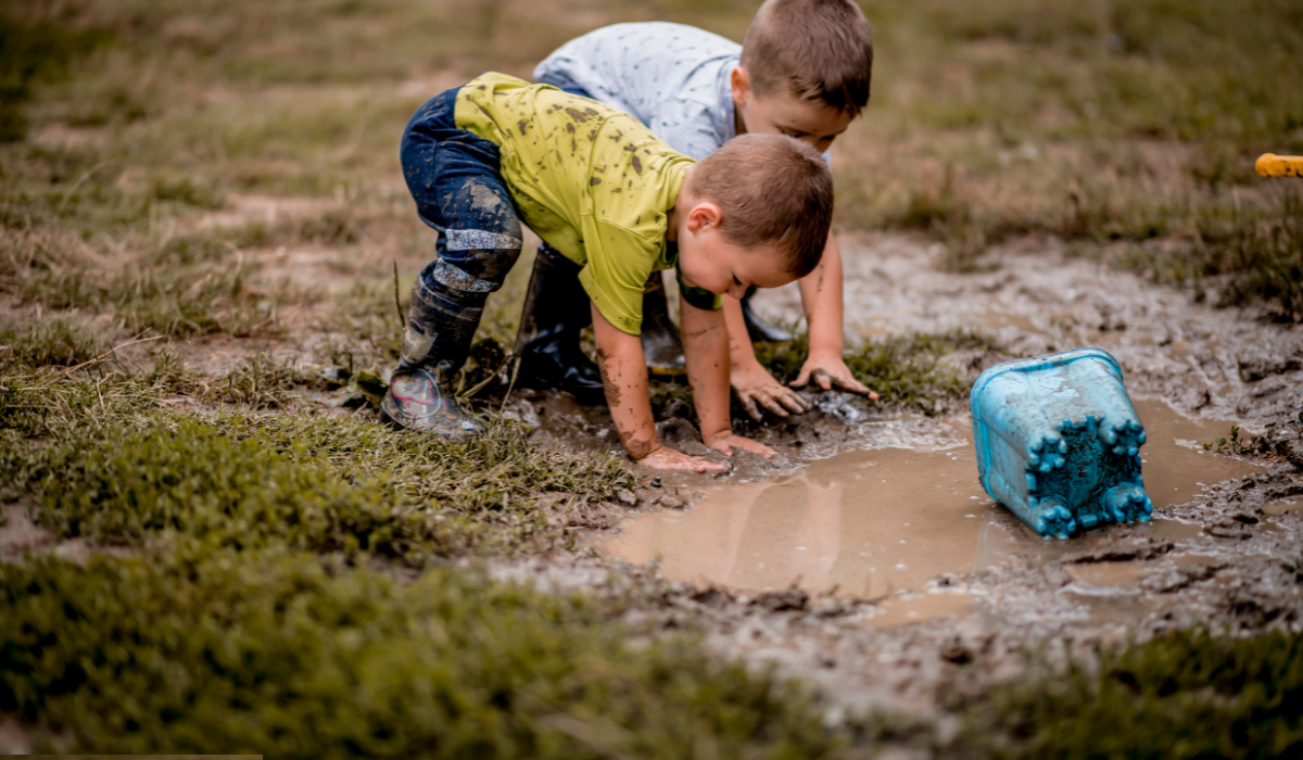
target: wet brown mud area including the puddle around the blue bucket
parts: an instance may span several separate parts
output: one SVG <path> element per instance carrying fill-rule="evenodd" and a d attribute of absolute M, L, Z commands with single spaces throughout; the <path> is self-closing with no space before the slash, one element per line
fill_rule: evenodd
<path fill-rule="evenodd" d="M 1053 241 L 993 250 L 972 274 L 939 271 L 941 252 L 909 237 L 842 245 L 848 335 L 976 326 L 997 349 L 947 358 L 972 377 L 1084 345 L 1113 353 L 1148 433 L 1153 521 L 1045 541 L 981 490 L 966 404 L 923 417 L 812 392 L 816 411 L 756 435 L 780 456 L 736 456 L 722 476 L 644 473 L 624 524 L 589 537 L 605 559 L 536 572 L 666 579 L 635 617 L 704 623 L 719 652 L 777 664 L 844 708 L 933 716 L 947 695 L 1018 679 L 1028 648 L 1088 656 L 1194 626 L 1303 627 L 1303 331 Z M 795 288 L 756 305 L 800 313 Z M 526 392 L 507 408 L 547 445 L 619 450 L 599 407 Z M 1233 422 L 1267 443 L 1204 451 Z M 685 418 L 658 428 L 706 452 Z"/>

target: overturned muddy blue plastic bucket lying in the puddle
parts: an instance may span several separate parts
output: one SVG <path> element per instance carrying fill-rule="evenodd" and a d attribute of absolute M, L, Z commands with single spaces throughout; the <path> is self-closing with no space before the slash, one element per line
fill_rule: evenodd
<path fill-rule="evenodd" d="M 969 405 L 982 488 L 1041 537 L 1149 520 L 1144 428 L 1106 352 L 997 364 L 977 378 Z"/>

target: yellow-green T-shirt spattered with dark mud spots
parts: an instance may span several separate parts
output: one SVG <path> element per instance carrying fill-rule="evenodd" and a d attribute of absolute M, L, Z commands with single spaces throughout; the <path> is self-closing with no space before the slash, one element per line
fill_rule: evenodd
<path fill-rule="evenodd" d="M 455 119 L 498 145 L 521 219 L 584 267 L 598 312 L 637 335 L 648 275 L 676 263 L 666 212 L 693 160 L 623 111 L 495 72 L 461 87 Z"/>

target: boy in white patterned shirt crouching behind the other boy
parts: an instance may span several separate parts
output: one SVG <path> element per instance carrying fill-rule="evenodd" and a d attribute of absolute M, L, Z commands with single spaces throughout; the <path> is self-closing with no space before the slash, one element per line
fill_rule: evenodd
<path fill-rule="evenodd" d="M 678 23 L 616 23 L 573 39 L 534 69 L 539 82 L 636 116 L 675 150 L 702 159 L 737 134 L 783 133 L 827 158 L 838 134 L 869 100 L 873 35 L 851 0 L 769 0 L 743 46 Z M 525 382 L 585 391 L 601 386 L 579 349 L 585 315 L 549 293 L 568 276 L 556 252 L 539 248 L 516 349 Z M 653 373 L 683 366 L 681 343 L 665 306 L 659 274 L 648 280 L 642 343 Z M 877 398 L 842 360 L 842 257 L 830 235 L 822 263 L 800 280 L 810 351 L 794 386 L 816 382 Z M 808 409 L 800 395 L 756 360 L 752 343 L 791 336 L 765 325 L 748 300 L 726 302 L 730 379 L 754 418 L 760 407 L 786 417 Z M 573 312 L 573 313 L 572 313 Z"/>

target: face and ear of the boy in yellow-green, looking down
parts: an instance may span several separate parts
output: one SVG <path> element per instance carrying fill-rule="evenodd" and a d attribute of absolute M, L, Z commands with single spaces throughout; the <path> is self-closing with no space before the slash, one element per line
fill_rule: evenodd
<path fill-rule="evenodd" d="M 778 288 L 795 282 L 771 248 L 741 248 L 719 232 L 714 205 L 694 207 L 678 236 L 679 271 L 684 284 L 719 296 L 741 299 L 749 285 Z"/>

